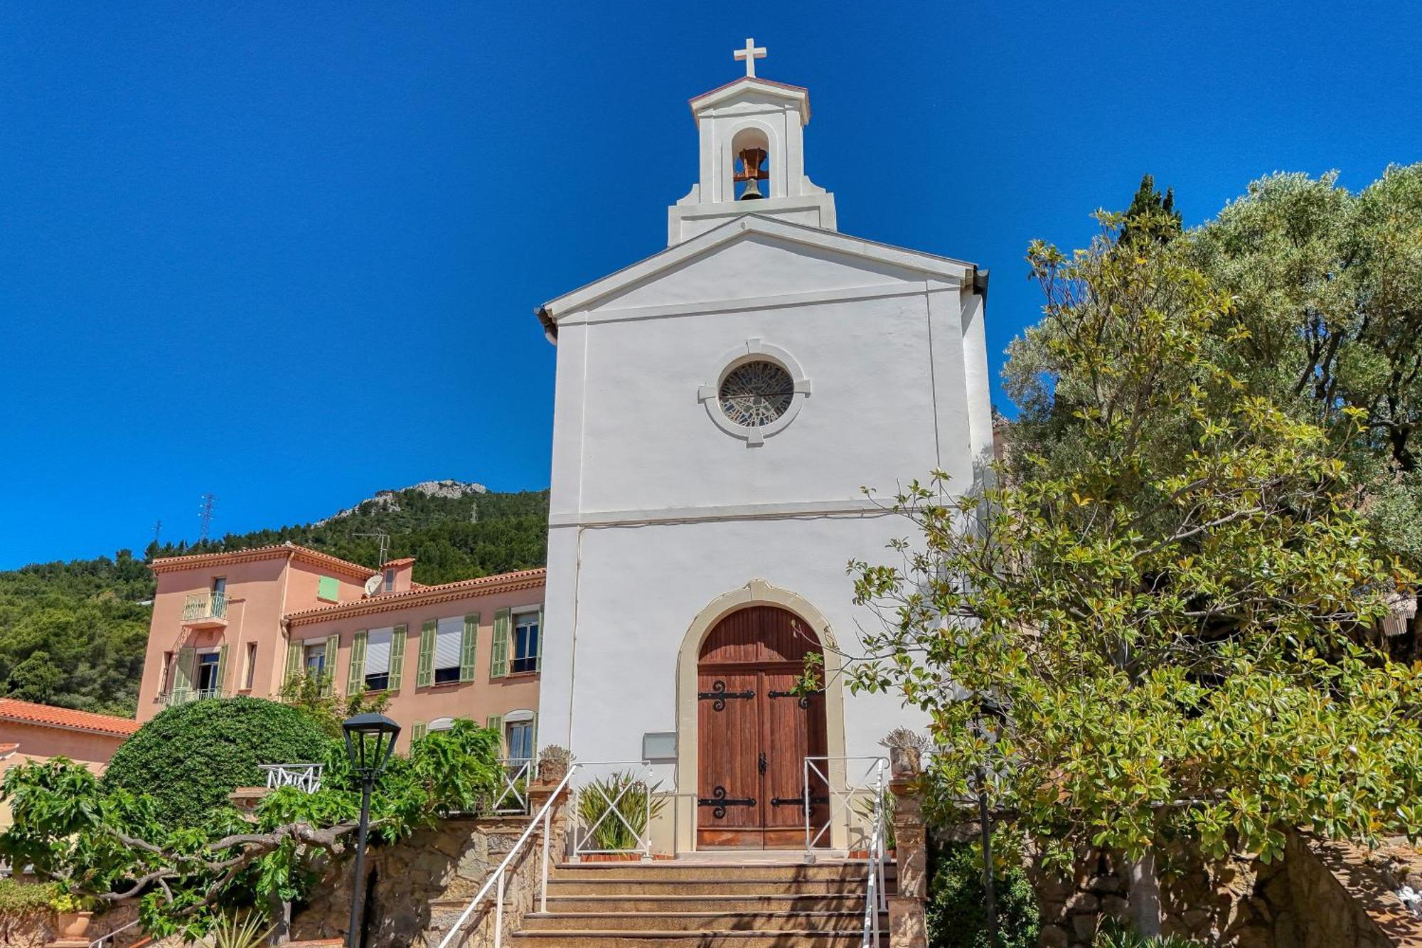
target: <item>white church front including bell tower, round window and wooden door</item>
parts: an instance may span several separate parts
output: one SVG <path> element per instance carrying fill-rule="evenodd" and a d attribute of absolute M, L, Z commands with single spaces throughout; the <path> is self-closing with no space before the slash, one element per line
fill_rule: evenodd
<path fill-rule="evenodd" d="M 653 760 L 678 853 L 802 848 L 803 759 L 843 781 L 921 723 L 838 673 L 877 622 L 846 564 L 906 534 L 862 488 L 934 468 L 966 488 L 991 460 L 987 273 L 840 233 L 806 175 L 809 94 L 757 56 L 691 100 L 700 178 L 668 246 L 538 310 L 557 347 L 539 743 Z M 813 696 L 792 693 L 808 652 Z"/>

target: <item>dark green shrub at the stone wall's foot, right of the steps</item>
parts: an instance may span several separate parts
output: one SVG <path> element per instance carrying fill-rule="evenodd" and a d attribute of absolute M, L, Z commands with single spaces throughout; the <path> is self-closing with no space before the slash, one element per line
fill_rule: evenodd
<path fill-rule="evenodd" d="M 994 848 L 1001 844 L 993 837 Z M 983 911 L 983 853 L 973 843 L 951 843 L 933 851 L 929 878 L 929 945 L 931 948 L 1037 948 L 1041 928 L 1037 895 L 1018 865 L 998 865 L 993 895 L 997 945 L 988 945 Z"/>

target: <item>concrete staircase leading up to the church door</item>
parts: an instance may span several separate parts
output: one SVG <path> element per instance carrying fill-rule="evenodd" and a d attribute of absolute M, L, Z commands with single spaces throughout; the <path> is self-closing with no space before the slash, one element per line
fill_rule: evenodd
<path fill-rule="evenodd" d="M 893 865 L 886 888 L 894 891 Z M 547 912 L 529 912 L 518 948 L 856 948 L 863 860 L 656 861 L 559 865 Z M 536 908 L 536 905 L 535 905 Z M 879 929 L 887 931 L 880 914 Z M 882 934 L 887 945 L 887 934 Z"/>

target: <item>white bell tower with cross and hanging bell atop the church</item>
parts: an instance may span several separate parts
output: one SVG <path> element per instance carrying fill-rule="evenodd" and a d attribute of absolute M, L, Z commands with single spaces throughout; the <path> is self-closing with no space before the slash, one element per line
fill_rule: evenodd
<path fill-rule="evenodd" d="M 742 78 L 691 100 L 701 178 L 667 209 L 668 246 L 741 214 L 836 229 L 835 195 L 805 174 L 809 90 L 759 78 L 765 47 L 755 40 L 735 58 L 745 60 Z"/>

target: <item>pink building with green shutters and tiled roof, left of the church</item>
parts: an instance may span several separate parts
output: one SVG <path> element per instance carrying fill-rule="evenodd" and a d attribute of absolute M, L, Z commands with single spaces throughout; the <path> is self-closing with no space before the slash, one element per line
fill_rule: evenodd
<path fill-rule="evenodd" d="M 402 749 L 462 717 L 498 727 L 508 756 L 530 756 L 545 571 L 424 586 L 414 562 L 375 571 L 293 544 L 155 559 L 138 720 L 189 700 L 276 697 L 306 672 L 340 693 L 390 693 Z"/>

